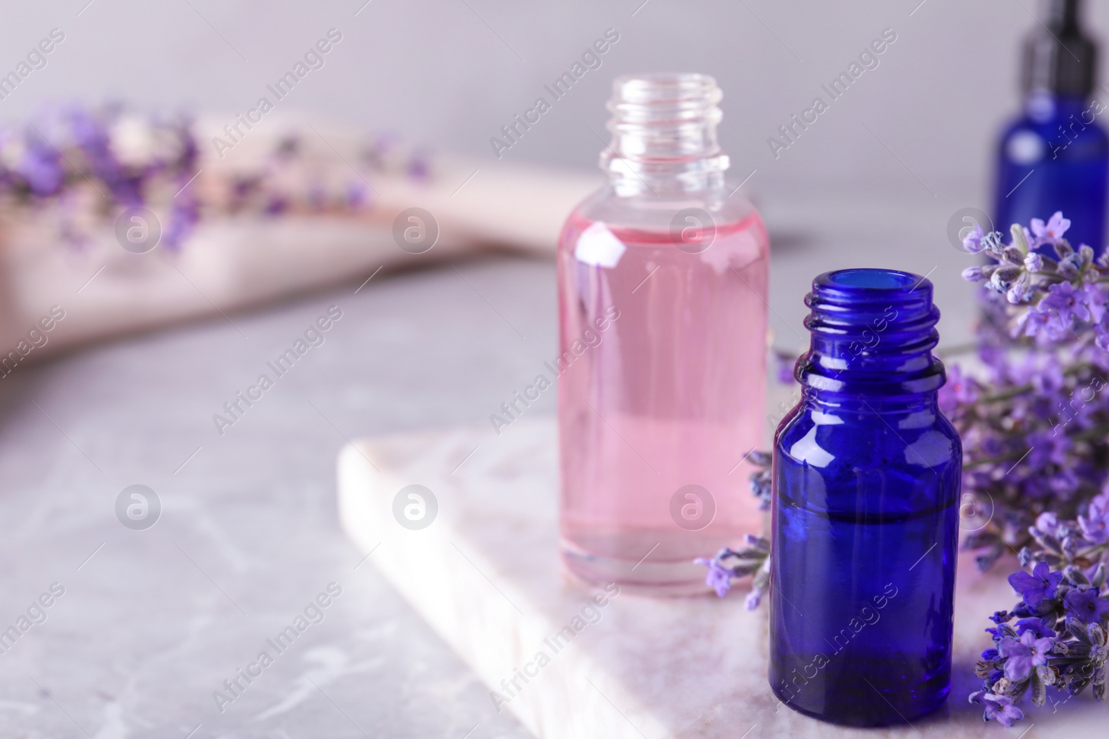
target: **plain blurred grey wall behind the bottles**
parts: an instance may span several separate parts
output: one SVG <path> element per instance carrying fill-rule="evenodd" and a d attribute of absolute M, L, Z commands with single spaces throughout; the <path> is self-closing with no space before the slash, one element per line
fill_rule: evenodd
<path fill-rule="evenodd" d="M 491 157 L 489 137 L 613 28 L 620 41 L 602 66 L 506 158 L 592 167 L 599 142 L 587 124 L 602 130 L 614 75 L 698 71 L 724 90 L 722 141 L 741 177 L 759 171 L 752 184 L 765 198 L 788 197 L 795 187 L 883 183 L 959 205 L 986 186 L 993 135 L 1019 100 L 1018 42 L 1038 7 L 1037 0 L 87 2 L 20 3 L 6 13 L 4 71 L 50 29 L 65 40 L 45 69 L 0 101 L 0 120 L 31 113 L 45 99 L 110 97 L 230 117 L 334 27 L 343 41 L 282 106 Z M 1109 30 L 1109 7 L 1089 4 L 1090 28 Z M 897 40 L 879 65 L 775 160 L 766 138 L 884 29 Z"/>

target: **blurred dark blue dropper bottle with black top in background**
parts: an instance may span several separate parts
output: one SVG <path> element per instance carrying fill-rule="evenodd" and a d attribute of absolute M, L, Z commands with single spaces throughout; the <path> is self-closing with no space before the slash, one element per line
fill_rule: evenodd
<path fill-rule="evenodd" d="M 1105 249 L 1109 196 L 1109 93 L 1093 94 L 1098 48 L 1081 27 L 1079 0 L 1045 0 L 1047 9 L 1025 41 L 1025 105 L 997 148 L 994 227 L 1070 219 L 1076 247 Z M 1098 89 L 1103 93 L 1103 89 Z M 1050 247 L 1048 247 L 1050 248 Z"/>

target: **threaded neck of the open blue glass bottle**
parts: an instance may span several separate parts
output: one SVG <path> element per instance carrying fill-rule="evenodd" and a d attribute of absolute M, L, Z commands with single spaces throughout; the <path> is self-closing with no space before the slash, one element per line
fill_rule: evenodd
<path fill-rule="evenodd" d="M 892 269 L 841 269 L 813 280 L 807 353 L 797 380 L 817 391 L 875 397 L 935 393 L 944 366 L 932 356 L 939 309 L 932 283 Z"/>

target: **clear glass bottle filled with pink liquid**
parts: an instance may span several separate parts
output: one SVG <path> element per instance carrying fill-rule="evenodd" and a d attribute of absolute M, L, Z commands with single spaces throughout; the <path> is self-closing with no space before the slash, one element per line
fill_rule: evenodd
<path fill-rule="evenodd" d="M 568 569 L 703 592 L 692 564 L 762 528 L 766 232 L 725 183 L 721 99 L 701 74 L 624 76 L 609 184 L 558 248 L 560 524 Z"/>

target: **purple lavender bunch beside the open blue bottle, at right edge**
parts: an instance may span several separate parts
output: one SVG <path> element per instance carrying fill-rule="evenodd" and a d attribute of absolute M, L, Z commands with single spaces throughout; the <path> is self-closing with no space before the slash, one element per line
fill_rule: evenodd
<path fill-rule="evenodd" d="M 971 700 L 1007 726 L 1022 717 L 1024 696 L 1041 706 L 1050 687 L 1092 686 L 1101 700 L 1107 684 L 1109 253 L 1076 250 L 1069 226 L 1056 213 L 1027 234 L 1014 226 L 1009 247 L 985 249 L 999 264 L 968 276 L 993 288 L 983 291 L 985 379 L 974 400 L 945 409 L 964 439 L 964 491 L 994 512 L 964 546 L 984 552 L 981 566 L 1019 550 L 1031 568 L 1009 578 L 1021 599 L 995 614 L 994 648 L 975 668 L 984 682 Z M 998 300 L 1001 287 L 1016 305 Z"/>

